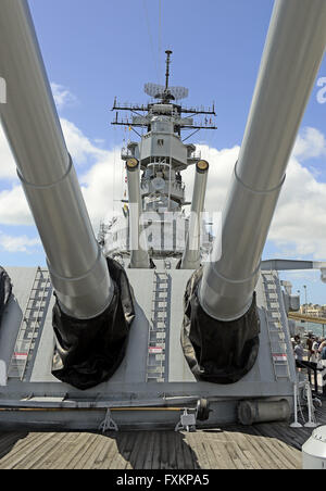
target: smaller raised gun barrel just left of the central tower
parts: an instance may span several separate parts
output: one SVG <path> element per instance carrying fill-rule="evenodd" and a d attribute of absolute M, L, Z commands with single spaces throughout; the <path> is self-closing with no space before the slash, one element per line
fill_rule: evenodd
<path fill-rule="evenodd" d="M 141 194 L 140 194 L 140 168 L 137 159 L 129 159 L 126 163 L 128 193 L 129 193 L 129 249 L 130 268 L 149 268 L 148 251 L 142 249 L 140 237 Z"/>

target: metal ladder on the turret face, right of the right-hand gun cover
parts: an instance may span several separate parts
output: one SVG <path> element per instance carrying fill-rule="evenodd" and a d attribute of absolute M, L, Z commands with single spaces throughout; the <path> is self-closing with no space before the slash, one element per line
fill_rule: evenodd
<path fill-rule="evenodd" d="M 265 317 L 275 380 L 289 379 L 288 350 L 281 322 L 283 307 L 279 303 L 281 291 L 279 291 L 278 277 L 273 272 L 264 272 L 262 276 L 266 303 Z"/>

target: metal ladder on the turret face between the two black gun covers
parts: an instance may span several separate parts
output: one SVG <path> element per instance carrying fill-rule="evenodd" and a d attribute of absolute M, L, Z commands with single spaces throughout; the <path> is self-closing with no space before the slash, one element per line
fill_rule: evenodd
<path fill-rule="evenodd" d="M 171 278 L 154 272 L 151 322 L 148 335 L 147 382 L 165 381 L 166 335 L 170 325 Z"/>

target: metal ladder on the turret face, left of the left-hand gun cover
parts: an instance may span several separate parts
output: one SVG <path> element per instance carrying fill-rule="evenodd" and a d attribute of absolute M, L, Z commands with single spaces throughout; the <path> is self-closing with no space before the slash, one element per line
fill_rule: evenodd
<path fill-rule="evenodd" d="M 28 364 L 33 360 L 51 293 L 49 272 L 38 267 L 9 365 L 9 378 L 24 380 Z"/>

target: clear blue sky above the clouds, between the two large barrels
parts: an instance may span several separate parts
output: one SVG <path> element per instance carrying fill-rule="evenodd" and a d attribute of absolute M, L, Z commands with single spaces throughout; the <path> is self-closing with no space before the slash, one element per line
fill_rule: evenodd
<path fill-rule="evenodd" d="M 159 0 L 29 3 L 49 78 L 78 97 L 83 106 L 65 114 L 90 138 L 113 143 L 114 96 L 146 102 L 143 84 L 163 80 L 164 51 L 172 49 L 172 84 L 189 87 L 187 103 L 215 100 L 213 141 L 241 141 L 272 1 L 161 0 L 161 23 Z"/>

